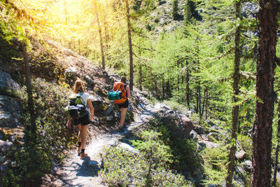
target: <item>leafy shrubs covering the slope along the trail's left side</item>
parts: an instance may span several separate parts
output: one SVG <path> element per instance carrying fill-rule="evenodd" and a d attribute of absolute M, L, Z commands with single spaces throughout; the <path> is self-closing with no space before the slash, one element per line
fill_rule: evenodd
<path fill-rule="evenodd" d="M 50 172 L 53 164 L 64 158 L 63 149 L 69 148 L 76 142 L 72 132 L 66 130 L 64 106 L 70 90 L 48 83 L 43 79 L 33 82 L 34 107 L 36 113 L 37 135 L 25 132 L 27 143 L 22 148 L 8 152 L 6 158 L 12 160 L 8 172 L 3 176 L 6 186 L 10 183 L 33 183 L 38 181 L 45 172 Z M 20 90 L 17 95 L 22 103 L 22 123 L 29 125 L 26 90 Z M 34 142 L 28 139 L 33 137 Z"/>

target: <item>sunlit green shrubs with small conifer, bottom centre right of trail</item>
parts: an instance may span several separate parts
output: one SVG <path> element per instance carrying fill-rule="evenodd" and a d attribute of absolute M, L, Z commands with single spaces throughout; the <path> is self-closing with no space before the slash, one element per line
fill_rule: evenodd
<path fill-rule="evenodd" d="M 169 170 L 172 155 L 169 146 L 160 140 L 160 133 L 145 131 L 143 140 L 133 141 L 136 152 L 111 147 L 104 155 L 100 172 L 109 186 L 190 186 L 183 176 Z"/>

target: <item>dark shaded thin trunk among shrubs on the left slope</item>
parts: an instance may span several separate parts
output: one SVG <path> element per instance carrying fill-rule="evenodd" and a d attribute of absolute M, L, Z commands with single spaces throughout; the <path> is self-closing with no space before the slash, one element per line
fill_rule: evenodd
<path fill-rule="evenodd" d="M 28 111 L 30 114 L 30 124 L 27 125 L 27 130 L 31 132 L 31 137 L 27 136 L 27 142 L 35 144 L 35 138 L 36 136 L 36 123 L 35 123 L 35 112 L 34 112 L 34 102 L 33 102 L 33 93 L 32 93 L 32 87 L 31 87 L 31 73 L 30 73 L 30 67 L 29 67 L 29 55 L 27 53 L 27 46 L 26 44 L 22 44 L 22 50 L 24 55 L 24 62 L 25 62 L 25 85 L 27 87 L 27 105 L 28 105 Z M 30 137 L 30 139 L 28 139 Z M 31 142 L 30 142 L 31 141 Z"/>

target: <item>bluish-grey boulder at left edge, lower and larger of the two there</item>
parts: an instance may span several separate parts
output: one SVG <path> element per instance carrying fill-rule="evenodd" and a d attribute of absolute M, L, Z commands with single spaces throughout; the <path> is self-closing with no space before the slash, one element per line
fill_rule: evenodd
<path fill-rule="evenodd" d="M 0 127 L 20 126 L 20 104 L 7 96 L 0 95 Z"/>

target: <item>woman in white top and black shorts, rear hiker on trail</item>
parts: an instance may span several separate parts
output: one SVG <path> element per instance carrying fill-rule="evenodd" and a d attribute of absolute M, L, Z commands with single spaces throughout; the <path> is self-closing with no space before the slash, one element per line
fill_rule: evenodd
<path fill-rule="evenodd" d="M 77 80 L 74 83 L 73 95 L 70 96 L 70 99 L 73 103 L 76 103 L 76 108 L 75 106 L 73 106 L 73 108 L 71 108 L 72 110 L 69 109 L 70 117 L 68 118 L 66 127 L 71 127 L 71 121 L 73 121 L 73 125 L 78 125 L 78 155 L 80 155 L 80 158 L 85 158 L 87 157 L 87 153 L 85 153 L 87 127 L 90 124 L 90 120 L 94 120 L 94 109 L 90 100 L 90 95 L 85 92 L 83 81 Z M 77 104 L 77 99 L 80 99 L 79 104 Z M 81 106 L 82 108 L 85 107 L 85 113 L 80 114 L 81 116 L 76 117 L 77 115 L 75 116 L 75 109 L 77 109 L 78 106 Z M 87 111 L 86 107 L 90 109 L 90 113 Z"/>

